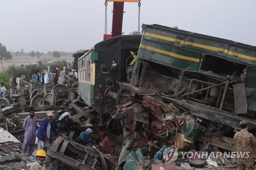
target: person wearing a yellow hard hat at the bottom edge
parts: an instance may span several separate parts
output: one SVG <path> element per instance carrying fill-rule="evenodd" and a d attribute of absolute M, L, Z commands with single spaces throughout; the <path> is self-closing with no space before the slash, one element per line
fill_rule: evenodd
<path fill-rule="evenodd" d="M 36 162 L 30 166 L 29 170 L 46 170 L 46 152 L 39 150 L 36 152 Z"/>

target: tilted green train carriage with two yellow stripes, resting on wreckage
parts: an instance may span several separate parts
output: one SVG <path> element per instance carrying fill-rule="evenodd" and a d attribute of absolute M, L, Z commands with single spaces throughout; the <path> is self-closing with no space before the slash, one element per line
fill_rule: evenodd
<path fill-rule="evenodd" d="M 143 25 L 131 84 L 201 117 L 256 129 L 256 47 L 159 25 Z"/>

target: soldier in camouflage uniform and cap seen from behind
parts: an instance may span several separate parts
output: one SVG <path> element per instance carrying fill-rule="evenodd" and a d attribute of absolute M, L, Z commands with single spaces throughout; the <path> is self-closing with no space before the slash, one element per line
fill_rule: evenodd
<path fill-rule="evenodd" d="M 237 143 L 238 152 L 249 152 L 249 158 L 237 158 L 238 169 L 254 169 L 254 136 L 248 132 L 248 125 L 245 120 L 239 123 L 241 131 L 234 134 L 234 141 Z M 246 157 L 246 155 L 245 155 Z"/>

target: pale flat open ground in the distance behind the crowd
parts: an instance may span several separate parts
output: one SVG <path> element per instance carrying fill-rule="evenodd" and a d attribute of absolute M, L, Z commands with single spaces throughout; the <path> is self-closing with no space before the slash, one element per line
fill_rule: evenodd
<path fill-rule="evenodd" d="M 64 58 L 64 57 L 60 57 L 58 59 L 55 58 L 31 58 L 31 57 L 27 57 L 27 58 L 12 58 L 11 60 L 2 60 L 0 61 L 0 71 L 3 70 L 7 70 L 8 66 L 11 65 L 15 65 L 15 66 L 20 66 L 22 64 L 27 65 L 27 64 L 32 64 L 32 63 L 36 63 L 37 61 L 40 60 L 47 60 L 47 61 L 58 61 L 58 60 L 66 60 L 68 62 L 72 61 L 72 58 Z"/>

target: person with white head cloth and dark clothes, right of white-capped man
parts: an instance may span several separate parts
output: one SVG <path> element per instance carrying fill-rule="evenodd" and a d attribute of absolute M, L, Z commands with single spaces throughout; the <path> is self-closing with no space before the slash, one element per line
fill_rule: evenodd
<path fill-rule="evenodd" d="M 69 111 L 64 112 L 59 116 L 59 129 L 63 132 L 69 133 L 73 125 L 72 115 L 74 115 L 74 110 L 69 109 Z"/>

